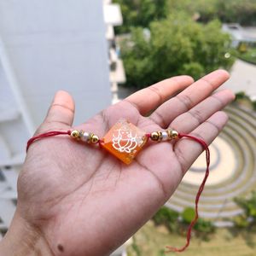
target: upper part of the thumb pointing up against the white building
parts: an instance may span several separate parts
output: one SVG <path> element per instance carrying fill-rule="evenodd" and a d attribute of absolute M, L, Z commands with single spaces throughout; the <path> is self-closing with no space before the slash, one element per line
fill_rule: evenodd
<path fill-rule="evenodd" d="M 70 127 L 73 125 L 74 108 L 73 97 L 64 90 L 58 91 L 42 125 L 55 123 L 63 128 Z"/>

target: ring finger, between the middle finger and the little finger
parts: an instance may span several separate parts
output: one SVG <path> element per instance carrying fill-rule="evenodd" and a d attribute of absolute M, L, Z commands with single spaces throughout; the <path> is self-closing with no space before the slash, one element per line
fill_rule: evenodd
<path fill-rule="evenodd" d="M 188 133 L 193 131 L 198 125 L 201 125 L 213 113 L 222 110 L 235 99 L 235 95 L 230 90 L 221 90 L 209 96 L 203 102 L 191 108 L 188 112 L 179 115 L 170 125 L 172 129 L 178 132 Z"/>

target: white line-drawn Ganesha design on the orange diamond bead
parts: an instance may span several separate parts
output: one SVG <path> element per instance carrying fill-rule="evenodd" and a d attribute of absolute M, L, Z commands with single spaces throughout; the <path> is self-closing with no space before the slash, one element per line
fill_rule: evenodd
<path fill-rule="evenodd" d="M 121 127 L 113 135 L 113 148 L 119 152 L 131 153 L 133 149 L 137 148 L 137 134 L 132 134 L 131 129 L 127 126 Z"/>

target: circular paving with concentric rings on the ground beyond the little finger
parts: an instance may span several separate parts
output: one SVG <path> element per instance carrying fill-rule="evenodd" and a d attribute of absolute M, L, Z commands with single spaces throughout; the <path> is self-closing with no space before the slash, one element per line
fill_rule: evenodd
<path fill-rule="evenodd" d="M 256 114 L 235 106 L 226 108 L 226 112 L 230 121 L 212 143 L 210 176 L 199 204 L 201 217 L 214 220 L 240 214 L 234 198 L 256 188 Z M 201 154 L 166 206 L 178 212 L 195 207 L 205 168 L 205 154 Z"/>

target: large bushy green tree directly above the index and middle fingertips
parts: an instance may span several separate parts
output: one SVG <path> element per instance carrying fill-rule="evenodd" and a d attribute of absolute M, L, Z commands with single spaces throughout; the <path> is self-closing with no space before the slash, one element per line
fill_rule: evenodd
<path fill-rule="evenodd" d="M 183 73 L 198 79 L 233 64 L 233 57 L 224 56 L 230 36 L 221 32 L 218 20 L 203 25 L 179 12 L 152 22 L 149 29 L 148 38 L 142 27 L 133 28 L 121 43 L 127 86 L 142 88 Z"/>

